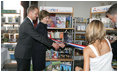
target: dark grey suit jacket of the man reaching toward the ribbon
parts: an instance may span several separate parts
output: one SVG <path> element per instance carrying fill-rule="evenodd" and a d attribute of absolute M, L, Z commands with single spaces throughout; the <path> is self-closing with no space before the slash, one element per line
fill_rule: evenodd
<path fill-rule="evenodd" d="M 19 28 L 19 39 L 15 48 L 15 57 L 29 59 L 32 56 L 33 39 L 51 47 L 53 41 L 35 31 L 29 18 L 25 18 Z"/>

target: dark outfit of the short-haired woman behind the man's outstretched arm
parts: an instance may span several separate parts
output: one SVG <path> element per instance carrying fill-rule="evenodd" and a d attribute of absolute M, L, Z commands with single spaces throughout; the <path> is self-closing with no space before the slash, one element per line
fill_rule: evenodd
<path fill-rule="evenodd" d="M 46 39 L 48 39 L 48 31 L 47 31 L 47 24 L 43 24 L 40 22 L 37 27 L 36 31 L 39 34 L 42 34 Z M 33 42 L 33 56 L 32 56 L 32 62 L 34 67 L 34 70 L 44 70 L 45 69 L 45 62 L 46 62 L 46 50 L 47 46 L 44 45 L 43 43 L 38 42 L 37 40 L 34 40 Z"/>

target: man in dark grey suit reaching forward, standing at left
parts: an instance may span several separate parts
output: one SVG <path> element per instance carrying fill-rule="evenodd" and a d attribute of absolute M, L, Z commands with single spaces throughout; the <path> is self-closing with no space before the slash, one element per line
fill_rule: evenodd
<path fill-rule="evenodd" d="M 19 28 L 19 39 L 15 48 L 15 59 L 17 61 L 18 71 L 29 71 L 30 61 L 32 57 L 33 39 L 41 42 L 42 44 L 51 47 L 55 50 L 59 45 L 50 39 L 46 39 L 43 35 L 35 31 L 33 27 L 33 20 L 36 20 L 39 14 L 38 7 L 31 6 L 28 8 L 27 17 Z"/>

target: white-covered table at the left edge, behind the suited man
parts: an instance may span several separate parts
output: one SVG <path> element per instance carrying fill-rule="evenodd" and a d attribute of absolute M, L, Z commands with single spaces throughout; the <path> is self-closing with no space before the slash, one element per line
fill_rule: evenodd
<path fill-rule="evenodd" d="M 7 48 L 1 48 L 1 69 L 6 63 L 10 62 L 9 51 Z"/>

